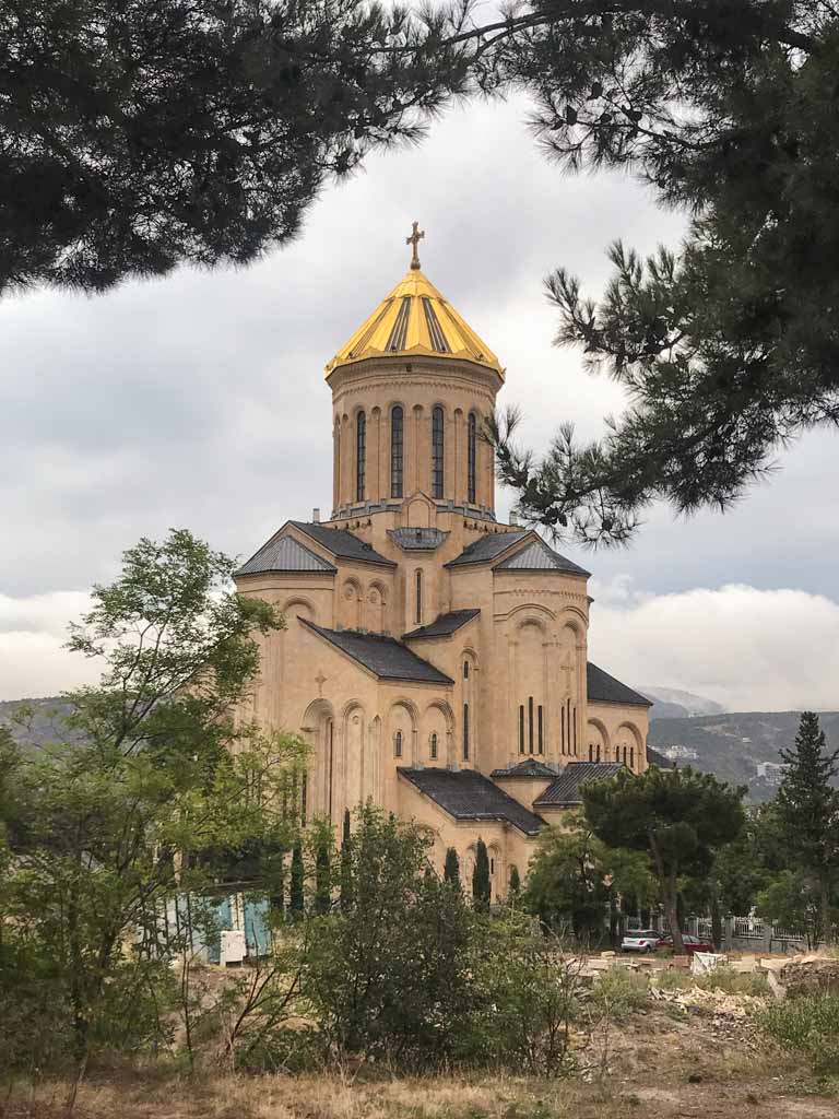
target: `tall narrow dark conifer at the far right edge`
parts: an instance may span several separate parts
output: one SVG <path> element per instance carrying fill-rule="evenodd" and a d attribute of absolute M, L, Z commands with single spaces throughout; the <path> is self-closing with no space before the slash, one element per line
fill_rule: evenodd
<path fill-rule="evenodd" d="M 839 877 L 839 750 L 828 750 L 819 717 L 801 716 L 795 745 L 782 750 L 786 763 L 777 790 L 781 834 L 793 868 L 808 878 L 819 895 L 822 935 L 833 939 L 831 894 Z"/>

